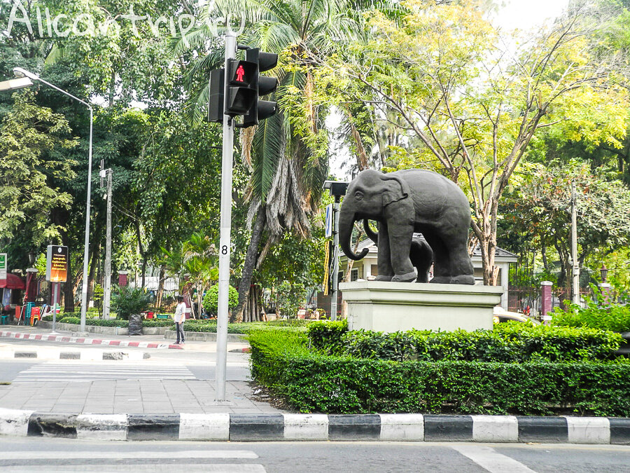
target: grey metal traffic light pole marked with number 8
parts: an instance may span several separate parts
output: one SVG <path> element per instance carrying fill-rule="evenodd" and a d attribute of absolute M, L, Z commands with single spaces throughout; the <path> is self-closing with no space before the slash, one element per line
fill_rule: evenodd
<path fill-rule="evenodd" d="M 225 70 L 236 57 L 236 36 L 225 35 Z M 225 80 L 224 96 L 229 97 Z M 225 372 L 228 364 L 228 296 L 230 294 L 230 231 L 232 226 L 232 160 L 234 119 L 223 115 L 223 164 L 221 166 L 221 240 L 219 242 L 218 317 L 216 324 L 216 400 L 225 401 Z"/>

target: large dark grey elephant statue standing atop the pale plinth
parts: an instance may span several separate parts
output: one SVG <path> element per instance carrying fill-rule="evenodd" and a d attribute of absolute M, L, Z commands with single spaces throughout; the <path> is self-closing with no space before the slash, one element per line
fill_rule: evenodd
<path fill-rule="evenodd" d="M 433 279 L 442 284 L 474 285 L 468 256 L 470 205 L 453 181 L 437 172 L 408 169 L 388 174 L 365 170 L 351 181 L 339 211 L 339 244 L 359 260 L 350 237 L 357 220 L 378 222 L 377 281 L 410 282 L 416 272 L 409 258 L 413 234 L 422 233 L 433 249 Z"/>

